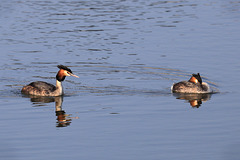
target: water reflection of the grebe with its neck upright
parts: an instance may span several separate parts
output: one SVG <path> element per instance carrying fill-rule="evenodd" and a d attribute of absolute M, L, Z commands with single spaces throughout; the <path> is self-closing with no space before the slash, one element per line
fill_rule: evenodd
<path fill-rule="evenodd" d="M 55 113 L 57 116 L 56 127 L 67 127 L 71 124 L 72 118 L 69 117 L 69 114 L 62 109 L 63 96 L 58 97 L 40 97 L 27 95 L 24 97 L 30 98 L 30 101 L 33 102 L 34 106 L 43 106 L 44 103 L 55 102 Z"/>

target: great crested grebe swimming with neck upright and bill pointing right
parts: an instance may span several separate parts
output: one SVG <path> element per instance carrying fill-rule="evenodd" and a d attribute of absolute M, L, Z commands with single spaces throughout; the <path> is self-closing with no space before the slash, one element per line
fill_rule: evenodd
<path fill-rule="evenodd" d="M 32 82 L 22 88 L 22 93 L 36 96 L 60 96 L 63 95 L 62 81 L 64 81 L 66 76 L 78 76 L 74 75 L 66 66 L 58 65 L 60 70 L 56 75 L 56 86 L 42 81 Z"/>

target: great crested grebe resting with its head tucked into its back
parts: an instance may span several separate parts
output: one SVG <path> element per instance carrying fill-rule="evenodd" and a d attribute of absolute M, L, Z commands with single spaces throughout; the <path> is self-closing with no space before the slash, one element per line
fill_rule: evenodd
<path fill-rule="evenodd" d="M 202 82 L 200 74 L 192 74 L 188 81 L 174 83 L 171 87 L 175 93 L 210 93 L 210 87 L 207 83 Z"/>

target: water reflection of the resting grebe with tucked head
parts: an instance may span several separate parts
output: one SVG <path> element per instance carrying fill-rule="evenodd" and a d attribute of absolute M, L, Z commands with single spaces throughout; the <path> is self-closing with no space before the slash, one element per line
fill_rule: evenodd
<path fill-rule="evenodd" d="M 202 102 L 210 100 L 212 94 L 196 94 L 196 93 L 173 93 L 177 99 L 187 100 L 192 107 L 199 108 Z"/>

